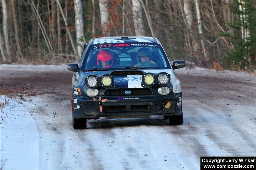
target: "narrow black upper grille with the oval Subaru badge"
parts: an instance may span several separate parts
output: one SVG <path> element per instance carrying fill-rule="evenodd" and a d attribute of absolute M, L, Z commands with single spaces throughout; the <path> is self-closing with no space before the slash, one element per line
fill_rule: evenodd
<path fill-rule="evenodd" d="M 131 94 L 125 94 L 126 91 L 131 91 Z M 105 91 L 106 96 L 118 96 L 118 95 L 150 95 L 152 91 L 150 88 L 120 88 L 120 89 L 109 89 Z"/>

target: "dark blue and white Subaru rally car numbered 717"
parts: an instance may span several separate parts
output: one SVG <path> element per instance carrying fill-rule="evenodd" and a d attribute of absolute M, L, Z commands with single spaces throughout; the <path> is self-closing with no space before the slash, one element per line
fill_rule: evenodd
<path fill-rule="evenodd" d="M 74 129 L 87 119 L 146 118 L 163 115 L 170 124 L 183 124 L 182 92 L 174 69 L 155 37 L 102 37 L 84 44 L 78 64 L 69 64 L 72 77 Z"/>

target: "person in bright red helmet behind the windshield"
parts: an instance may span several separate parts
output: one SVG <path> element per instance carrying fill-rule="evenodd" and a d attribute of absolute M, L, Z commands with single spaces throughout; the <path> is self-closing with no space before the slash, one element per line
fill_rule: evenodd
<path fill-rule="evenodd" d="M 97 65 L 102 68 L 110 68 L 113 64 L 113 54 L 109 49 L 102 49 L 97 55 Z"/>

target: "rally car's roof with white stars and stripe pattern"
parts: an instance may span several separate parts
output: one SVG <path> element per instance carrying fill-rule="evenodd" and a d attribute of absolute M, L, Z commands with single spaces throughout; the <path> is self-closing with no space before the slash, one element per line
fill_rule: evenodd
<path fill-rule="evenodd" d="M 119 36 L 119 37 L 101 37 L 95 38 L 93 44 L 105 43 L 157 43 L 154 37 L 142 36 Z"/>

